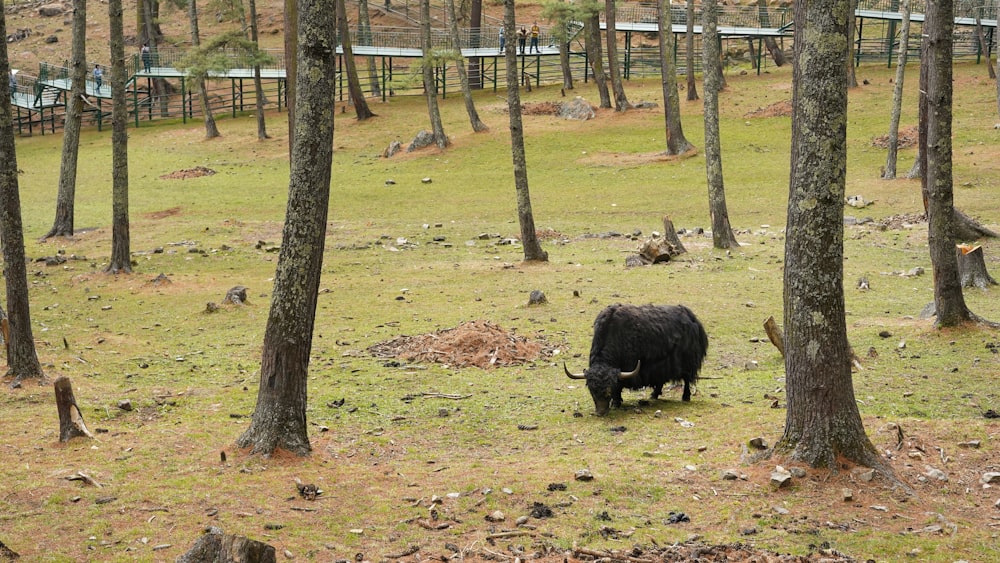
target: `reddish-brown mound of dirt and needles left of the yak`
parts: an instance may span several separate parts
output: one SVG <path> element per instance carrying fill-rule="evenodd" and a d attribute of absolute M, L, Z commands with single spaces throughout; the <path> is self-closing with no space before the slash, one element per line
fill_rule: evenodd
<path fill-rule="evenodd" d="M 483 320 L 430 334 L 399 336 L 368 348 L 376 358 L 483 369 L 526 364 L 550 350 L 551 346 L 542 340 L 531 340 Z"/>

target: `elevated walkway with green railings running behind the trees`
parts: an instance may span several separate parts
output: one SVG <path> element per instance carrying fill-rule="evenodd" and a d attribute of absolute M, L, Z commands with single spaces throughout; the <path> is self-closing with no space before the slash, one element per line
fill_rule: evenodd
<path fill-rule="evenodd" d="M 924 21 L 925 0 L 915 0 L 913 2 L 911 21 Z M 434 6 L 443 6 L 441 0 L 434 0 Z M 997 13 L 1000 0 L 957 0 L 955 23 L 959 31 L 956 37 L 962 35 L 962 40 L 968 42 L 968 36 L 973 35 L 969 30 L 978 27 L 984 30 L 989 37 L 987 44 L 992 45 L 993 36 L 997 33 Z M 856 11 L 858 18 L 858 42 L 855 53 L 858 61 L 863 56 L 871 57 L 871 53 L 878 53 L 878 56 L 887 56 L 892 60 L 892 51 L 897 43 L 896 25 L 902 21 L 899 14 L 900 0 L 860 0 Z M 378 3 L 371 4 L 372 9 L 382 9 Z M 412 10 L 419 8 L 418 0 L 389 0 L 385 2 L 385 11 L 394 14 L 401 14 L 409 17 Z M 442 24 L 444 21 L 443 9 L 440 15 L 434 16 L 435 23 Z M 882 22 L 887 29 L 882 30 L 878 39 L 867 39 L 861 33 L 866 20 Z M 696 35 L 702 33 L 702 14 L 700 7 L 696 9 L 694 15 L 693 30 Z M 499 20 L 486 18 L 484 26 L 479 29 L 463 29 L 460 32 L 458 50 L 461 57 L 467 61 L 470 68 L 470 75 L 473 77 L 473 85 L 477 88 L 487 87 L 492 83 L 496 90 L 501 73 L 506 64 L 504 54 L 500 51 L 499 30 L 501 23 Z M 681 46 L 679 38 L 687 31 L 687 13 L 684 6 L 671 6 L 671 29 L 675 44 Z M 519 25 L 521 22 L 519 22 Z M 574 65 L 573 72 L 576 75 L 582 74 L 584 80 L 589 76 L 586 60 L 586 53 L 583 49 L 583 42 L 578 37 L 582 29 L 579 23 L 571 24 L 571 39 L 569 41 L 571 53 L 571 65 Z M 601 21 L 601 29 L 607 32 L 607 24 Z M 616 11 L 615 29 L 626 35 L 624 42 L 624 73 L 625 78 L 634 74 L 634 70 L 647 68 L 651 74 L 658 73 L 660 68 L 659 55 L 649 51 L 639 52 L 633 47 L 632 35 L 635 33 L 655 36 L 660 33 L 657 7 L 655 4 L 625 3 L 619 5 Z M 719 35 L 723 40 L 747 40 L 758 43 L 757 69 L 760 72 L 760 42 L 765 38 L 786 38 L 793 36 L 792 11 L 789 8 L 778 8 L 771 6 L 724 6 L 719 9 Z M 870 33 L 870 32 L 869 32 Z M 513 39 L 508 39 L 513 42 Z M 865 43 L 868 41 L 869 43 Z M 956 39 L 958 41 L 958 39 Z M 542 76 L 552 80 L 559 80 L 559 48 L 555 44 L 554 34 L 551 27 L 543 26 L 539 37 L 539 47 L 537 52 L 519 53 L 517 64 L 522 83 L 540 84 Z M 352 52 L 356 57 L 371 57 L 378 59 L 373 68 L 369 68 L 369 80 L 367 84 L 371 92 L 378 92 L 385 99 L 388 95 L 393 95 L 393 87 L 398 75 L 409 73 L 410 62 L 405 62 L 403 66 L 397 66 L 395 60 L 412 61 L 423 57 L 421 49 L 420 32 L 410 27 L 379 27 L 367 30 L 354 30 L 351 37 Z M 452 49 L 450 35 L 443 29 L 432 30 L 432 48 Z M 958 44 L 958 43 L 956 43 Z M 969 43 L 971 45 L 971 43 Z M 976 42 L 975 49 L 979 49 Z M 655 50 L 655 49 L 654 49 Z M 677 50 L 675 50 L 676 52 Z M 959 54 L 956 50 L 956 54 Z M 285 98 L 286 73 L 284 68 L 284 57 L 280 51 L 270 51 L 269 54 L 273 63 L 263 66 L 260 69 L 261 79 L 267 84 L 265 97 L 268 101 L 276 101 L 280 110 Z M 982 53 L 977 53 L 977 56 Z M 988 54 L 988 53 L 986 53 Z M 338 55 L 338 79 L 341 84 L 338 92 L 339 99 L 344 99 L 346 86 L 345 77 L 342 72 L 343 51 L 337 48 Z M 139 126 L 140 119 L 180 117 L 186 121 L 188 117 L 193 117 L 200 108 L 196 107 L 194 97 L 188 85 L 189 75 L 182 70 L 179 64 L 184 56 L 184 52 L 170 49 L 161 49 L 152 54 L 148 68 L 145 68 L 138 54 L 134 54 L 126 60 L 126 89 L 128 91 L 128 111 L 136 127 Z M 238 111 L 243 111 L 246 107 L 252 107 L 251 101 L 247 98 L 254 96 L 253 88 L 246 88 L 244 82 L 253 80 L 254 71 L 250 68 L 250 62 L 245 57 L 231 53 L 229 55 L 230 69 L 224 72 L 210 73 L 210 81 L 215 83 L 228 83 L 229 88 L 218 88 L 210 96 L 215 100 L 215 105 L 211 107 L 213 112 L 219 110 L 231 110 L 233 116 Z M 370 59 L 371 60 L 371 59 Z M 107 100 L 111 99 L 110 88 L 110 67 L 102 65 L 108 69 L 105 72 L 104 83 L 101 88 L 97 88 L 93 81 L 92 74 L 88 72 L 85 85 L 85 95 L 88 99 L 88 114 L 94 119 L 98 128 L 102 126 L 104 118 L 108 115 L 105 107 L 108 107 Z M 655 67 L 655 68 L 654 68 Z M 87 63 L 87 68 L 93 68 L 93 63 Z M 471 71 L 475 69 L 475 74 Z M 442 95 L 445 94 L 448 84 L 449 72 L 454 70 L 454 63 L 445 63 L 444 66 L 435 69 Z M 359 69 L 359 74 L 365 74 Z M 179 96 L 175 92 L 157 93 L 154 88 L 154 81 L 166 80 L 174 84 L 174 88 L 179 86 Z M 377 81 L 377 83 L 376 83 Z M 364 84 L 363 84 L 364 87 Z M 405 86 L 404 86 L 405 87 Z M 29 76 L 25 73 L 17 75 L 17 85 L 11 95 L 12 108 L 16 110 L 15 122 L 19 134 L 27 130 L 32 134 L 36 127 L 45 133 L 46 129 L 55 131 L 61 125 L 60 117 L 65 113 L 65 104 L 68 92 L 72 88 L 70 71 L 64 67 L 42 64 L 39 67 L 38 76 Z M 175 99 L 179 98 L 179 99 Z M 271 103 L 274 103 L 273 101 Z M 110 108 L 109 108 L 110 110 Z"/>

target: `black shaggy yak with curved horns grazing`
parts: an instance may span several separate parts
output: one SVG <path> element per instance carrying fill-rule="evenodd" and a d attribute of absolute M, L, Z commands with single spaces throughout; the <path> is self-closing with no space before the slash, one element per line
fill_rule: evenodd
<path fill-rule="evenodd" d="M 652 387 L 657 399 L 668 382 L 684 382 L 684 401 L 698 381 L 708 335 L 683 305 L 611 305 L 594 321 L 590 366 L 571 379 L 586 379 L 597 415 L 622 405 L 622 389 Z M 623 371 L 630 369 L 632 371 Z"/>

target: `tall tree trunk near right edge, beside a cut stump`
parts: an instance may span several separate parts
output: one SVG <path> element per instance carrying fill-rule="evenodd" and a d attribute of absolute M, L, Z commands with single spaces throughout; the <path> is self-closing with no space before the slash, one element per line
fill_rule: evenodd
<path fill-rule="evenodd" d="M 934 271 L 934 310 L 939 327 L 972 320 L 965 305 L 955 256 L 955 205 L 952 183 L 952 33 L 955 28 L 952 0 L 927 3 L 923 26 L 927 66 L 927 167 L 924 198 L 927 201 L 927 246 Z"/>

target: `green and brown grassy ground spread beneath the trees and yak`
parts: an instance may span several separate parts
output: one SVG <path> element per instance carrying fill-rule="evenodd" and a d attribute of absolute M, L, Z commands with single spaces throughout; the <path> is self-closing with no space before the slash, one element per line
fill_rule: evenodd
<path fill-rule="evenodd" d="M 859 80 L 869 84 L 851 93 L 847 192 L 874 201 L 848 208 L 857 217 L 921 210 L 917 182 L 878 179 L 885 153 L 872 139 L 887 128 L 893 73 L 862 67 Z M 916 121 L 915 75 L 914 67 L 904 126 Z M 664 214 L 679 228 L 709 225 L 703 156 L 657 157 L 665 146 L 658 110 L 599 112 L 588 122 L 526 117 L 535 220 L 550 255 L 548 264 L 528 266 L 518 246 L 502 244 L 518 233 L 502 99 L 478 96 L 491 131 L 475 135 L 460 98 L 449 96 L 452 147 L 392 159 L 380 158 L 392 140 L 405 144 L 428 126 L 422 99 L 376 103 L 379 116 L 367 123 L 353 121 L 348 108 L 335 138 L 306 459 L 248 457 L 233 447 L 256 398 L 280 243 L 283 114 L 269 115 L 275 137 L 263 143 L 252 118 L 220 120 L 224 136 L 211 142 L 199 124 L 130 130 L 131 276 L 101 273 L 110 254 L 110 132 L 84 132 L 79 232 L 48 242 L 38 238 L 54 217 L 61 136 L 18 139 L 39 356 L 49 378 L 72 378 L 97 434 L 60 444 L 51 386 L 3 387 L 0 540 L 29 560 L 52 561 L 173 560 L 209 525 L 316 560 L 380 560 L 410 546 L 420 550 L 408 559 L 423 560 L 451 554 L 448 544 L 470 557 L 561 558 L 574 544 L 629 549 L 696 536 L 796 554 L 829 544 L 880 561 L 1000 558 L 1000 496 L 979 483 L 1000 470 L 1000 426 L 983 417 L 1000 409 L 1000 335 L 938 331 L 918 318 L 933 299 L 932 280 L 903 274 L 930 271 L 923 223 L 848 227 L 844 265 L 848 332 L 864 358 L 854 383 L 866 427 L 917 496 L 864 482 L 850 468 L 808 470 L 775 491 L 775 461 L 741 464 L 743 444 L 758 436 L 773 443 L 784 422 L 783 364 L 761 323 L 781 318 L 790 119 L 750 115 L 790 99 L 791 73 L 734 72 L 728 80 L 724 171 L 743 246 L 721 252 L 710 237 L 686 236 L 688 254 L 637 269 L 625 269 L 624 259 L 638 242 L 605 235 L 642 238 L 662 229 Z M 658 101 L 659 89 L 655 81 L 627 85 L 633 102 Z M 955 92 L 956 204 L 997 230 L 994 85 L 984 67 L 960 66 Z M 596 98 L 590 85 L 575 93 Z M 559 99 L 556 88 L 526 96 Z M 700 110 L 683 104 L 685 132 L 699 146 Z M 913 158 L 913 149 L 901 151 L 900 170 Z M 163 178 L 196 166 L 217 173 Z M 1000 246 L 984 246 L 997 277 Z M 66 261 L 40 261 L 55 256 Z M 155 281 L 161 273 L 168 282 Z M 861 276 L 871 290 L 855 289 Z M 248 305 L 206 313 L 236 285 L 249 288 Z M 536 289 L 548 304 L 529 308 Z M 1000 319 L 997 291 L 968 290 L 966 299 Z M 589 395 L 561 363 L 582 369 L 591 323 L 614 302 L 685 303 L 699 315 L 711 344 L 707 379 L 691 403 L 674 392 L 652 403 L 631 393 L 625 409 L 590 416 Z M 550 352 L 482 370 L 400 365 L 366 351 L 476 319 L 544 339 Z M 119 409 L 122 399 L 135 409 Z M 960 447 L 972 440 L 980 447 Z M 928 467 L 948 480 L 926 477 Z M 595 479 L 575 480 L 581 469 Z M 745 478 L 722 480 L 726 469 Z M 103 487 L 65 479 L 78 471 Z M 296 477 L 323 494 L 299 499 Z M 553 516 L 519 528 L 530 535 L 490 537 L 514 530 L 535 503 Z M 422 526 L 432 510 L 449 527 Z M 504 521 L 485 519 L 498 510 Z M 670 511 L 691 521 L 669 524 Z"/>

